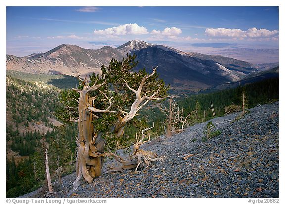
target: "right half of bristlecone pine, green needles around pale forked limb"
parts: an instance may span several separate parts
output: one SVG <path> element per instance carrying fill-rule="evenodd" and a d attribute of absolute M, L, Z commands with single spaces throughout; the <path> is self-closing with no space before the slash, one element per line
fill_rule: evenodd
<path fill-rule="evenodd" d="M 149 101 L 159 101 L 167 97 L 167 90 L 163 80 L 158 79 L 156 68 L 151 74 L 147 74 L 145 69 L 139 72 L 131 72 L 138 62 L 135 55 L 127 55 L 122 62 L 112 59 L 109 66 L 102 66 L 102 73 L 107 81 L 112 85 L 115 92 L 118 107 L 117 122 L 114 126 L 116 137 L 124 134 L 126 123 L 132 120 L 137 112 Z"/>

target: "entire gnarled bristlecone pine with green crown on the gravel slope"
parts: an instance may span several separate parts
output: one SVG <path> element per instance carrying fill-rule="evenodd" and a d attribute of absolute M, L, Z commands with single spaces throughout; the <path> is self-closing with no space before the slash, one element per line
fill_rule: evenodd
<path fill-rule="evenodd" d="M 60 93 L 64 108 L 57 110 L 57 118 L 61 122 L 78 123 L 75 189 L 82 176 L 91 183 L 101 175 L 103 156 L 114 156 L 113 153 L 104 152 L 105 140 L 122 137 L 126 123 L 149 101 L 160 101 L 168 97 L 169 86 L 166 87 L 163 80 L 158 79 L 156 68 L 151 74 L 147 74 L 145 69 L 131 72 L 138 63 L 135 58 L 135 55 L 127 55 L 122 61 L 112 59 L 108 67 L 102 65 L 100 76 L 93 73 L 89 78 L 78 77 L 80 85 L 77 89 L 63 90 Z M 142 135 L 143 140 L 144 132 Z M 139 166 L 145 168 L 151 161 L 163 159 L 146 151 L 143 158 L 148 158 L 150 163 L 142 166 L 141 163 L 145 161 L 142 161 L 142 154 L 139 153 L 143 151 L 138 151 L 139 146 L 145 143 L 142 140 L 137 140 L 137 151 L 134 151 L 134 158 L 139 159 L 135 163 L 132 161 L 134 164 L 127 169 L 137 170 Z M 120 162 L 126 163 L 122 160 Z"/>

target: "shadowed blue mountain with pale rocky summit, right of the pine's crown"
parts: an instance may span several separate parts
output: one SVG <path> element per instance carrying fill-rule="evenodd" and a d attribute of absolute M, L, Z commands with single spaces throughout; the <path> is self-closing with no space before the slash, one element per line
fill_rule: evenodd
<path fill-rule="evenodd" d="M 186 53 L 180 50 L 149 44 L 143 41 L 129 41 L 116 48 L 121 53 L 137 55 L 137 69 L 145 67 L 148 72 L 158 66 L 158 73 L 166 83 L 179 89 L 200 90 L 215 84 L 235 82 L 255 71 L 253 64 L 222 57 Z"/>

